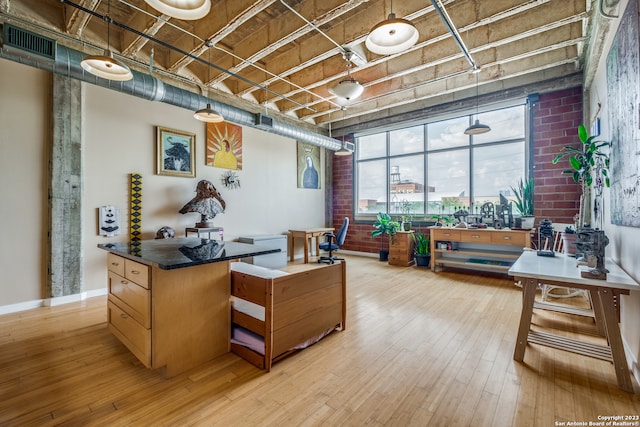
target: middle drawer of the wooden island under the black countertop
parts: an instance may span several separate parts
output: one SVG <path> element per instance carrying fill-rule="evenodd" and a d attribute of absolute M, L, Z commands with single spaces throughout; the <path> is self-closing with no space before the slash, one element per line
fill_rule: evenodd
<path fill-rule="evenodd" d="M 109 299 L 112 298 L 142 326 L 151 327 L 151 291 L 109 271 Z"/>

